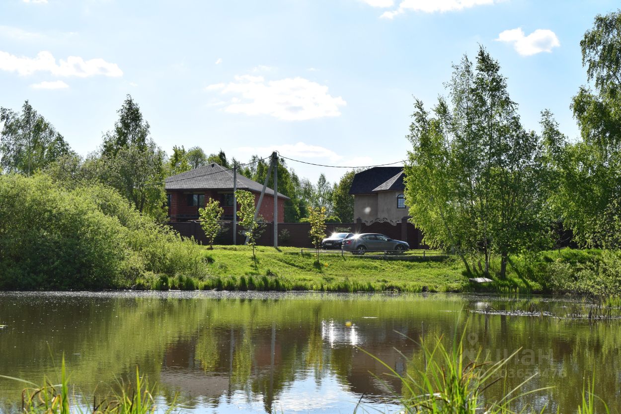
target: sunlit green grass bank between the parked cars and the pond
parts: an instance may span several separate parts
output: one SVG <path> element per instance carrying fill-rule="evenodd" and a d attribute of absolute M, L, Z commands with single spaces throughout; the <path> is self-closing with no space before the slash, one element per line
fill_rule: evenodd
<path fill-rule="evenodd" d="M 468 277 L 485 276 L 476 271 L 468 276 L 463 263 L 455 256 L 440 256 L 440 252 L 410 251 L 389 255 L 387 259 L 358 256 L 340 251 L 320 254 L 319 262 L 312 250 L 303 254 L 299 248 L 257 246 L 256 263 L 248 246 L 214 246 L 204 249 L 207 274 L 175 277 L 153 274 L 140 279 L 135 289 L 216 289 L 216 290 L 323 290 L 335 292 L 496 292 L 553 293 L 550 276 L 558 263 L 579 271 L 582 262 L 597 261 L 598 251 L 571 250 L 544 251 L 528 256 L 512 256 L 504 278 L 499 274 L 499 260 L 491 262 L 493 282 L 471 284 Z M 414 256 L 414 261 L 397 260 Z M 567 290 L 572 292 L 571 289 Z M 579 292 L 577 292 L 579 293 Z"/>

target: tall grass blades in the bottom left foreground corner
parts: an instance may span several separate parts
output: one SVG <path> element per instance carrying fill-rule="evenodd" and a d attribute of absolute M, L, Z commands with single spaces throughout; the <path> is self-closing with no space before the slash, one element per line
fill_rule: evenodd
<path fill-rule="evenodd" d="M 65 358 L 61 364 L 61 381 L 57 385 L 53 385 L 47 379 L 43 380 L 45 385 L 37 385 L 13 377 L 0 377 L 28 385 L 22 391 L 23 414 L 154 414 L 158 408 L 153 397 L 156 394 L 155 388 L 149 387 L 147 377 L 140 376 L 138 368 L 135 384 L 128 386 L 120 384 L 120 392 L 111 391 L 110 397 L 99 402 L 93 398 L 92 405 L 86 405 L 83 400 L 70 392 Z M 173 402 L 166 413 L 171 413 L 174 409 Z"/>

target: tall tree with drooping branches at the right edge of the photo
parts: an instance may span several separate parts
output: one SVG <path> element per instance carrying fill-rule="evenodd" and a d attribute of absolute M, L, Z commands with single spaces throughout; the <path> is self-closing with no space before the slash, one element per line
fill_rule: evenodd
<path fill-rule="evenodd" d="M 598 15 L 580 42 L 594 89 L 582 86 L 572 109 L 582 140 L 556 158 L 563 172 L 556 202 L 581 245 L 621 247 L 621 11 Z"/>

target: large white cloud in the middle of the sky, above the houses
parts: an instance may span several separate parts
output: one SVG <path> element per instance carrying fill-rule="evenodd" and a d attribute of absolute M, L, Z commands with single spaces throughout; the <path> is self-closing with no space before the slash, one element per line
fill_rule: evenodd
<path fill-rule="evenodd" d="M 212 84 L 207 91 L 233 95 L 226 112 L 246 115 L 271 115 L 284 120 L 337 117 L 347 105 L 342 97 L 328 93 L 328 87 L 304 78 L 266 81 L 263 76 L 243 74 L 228 84 Z"/>

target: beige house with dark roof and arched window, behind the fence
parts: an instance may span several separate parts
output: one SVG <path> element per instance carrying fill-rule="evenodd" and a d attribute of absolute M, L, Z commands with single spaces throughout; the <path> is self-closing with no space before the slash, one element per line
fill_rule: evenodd
<path fill-rule="evenodd" d="M 354 220 L 366 225 L 407 220 L 404 177 L 403 167 L 374 167 L 356 174 L 349 191 L 354 197 Z"/>

